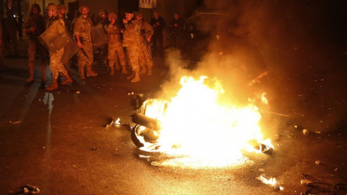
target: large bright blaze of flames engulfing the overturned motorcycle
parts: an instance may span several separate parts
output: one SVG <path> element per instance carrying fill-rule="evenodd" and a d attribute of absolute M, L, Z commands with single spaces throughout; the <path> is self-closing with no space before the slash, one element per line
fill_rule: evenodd
<path fill-rule="evenodd" d="M 273 148 L 261 134 L 261 115 L 254 101 L 244 107 L 223 105 L 219 102 L 225 92 L 222 84 L 206 76 L 198 80 L 184 76 L 180 84 L 170 102 L 155 100 L 146 106 L 145 115 L 160 121 L 161 130 L 155 132 L 157 142 L 145 143 L 142 150 L 156 147 L 155 151 L 179 157 L 165 164 L 225 167 L 247 161 L 242 151 L 250 148 L 250 140 Z"/>

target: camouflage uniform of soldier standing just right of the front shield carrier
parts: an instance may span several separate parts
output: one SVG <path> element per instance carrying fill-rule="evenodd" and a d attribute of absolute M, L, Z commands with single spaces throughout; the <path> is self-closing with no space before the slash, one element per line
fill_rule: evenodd
<path fill-rule="evenodd" d="M 76 18 L 75 25 L 73 28 L 73 35 L 79 35 L 82 43 L 81 49 L 85 51 L 88 58 L 80 50 L 78 51 L 78 68 L 84 71 L 84 66 L 87 66 L 87 70 L 91 69 L 93 63 L 93 44 L 92 37 L 90 34 L 90 28 L 93 26 L 93 22 L 89 17 L 83 17 L 80 15 Z M 82 41 L 83 40 L 83 41 Z M 87 75 L 88 76 L 88 75 Z"/>

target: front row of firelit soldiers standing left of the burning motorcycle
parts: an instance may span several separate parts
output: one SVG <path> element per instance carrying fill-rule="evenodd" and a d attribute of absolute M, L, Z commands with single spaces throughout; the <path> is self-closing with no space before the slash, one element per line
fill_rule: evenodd
<path fill-rule="evenodd" d="M 65 6 L 64 4 L 56 5 L 49 3 L 46 7 L 47 17 L 43 17 L 40 12 L 40 6 L 36 3 L 33 4 L 30 8 L 30 17 L 23 23 L 23 33 L 26 33 L 29 37 L 29 78 L 27 81 L 34 81 L 36 54 L 39 54 L 41 57 L 42 81 L 47 81 L 46 63 L 48 51 L 49 68 L 53 79 L 52 83 L 46 87 L 46 90 L 54 90 L 58 89 L 58 76 L 64 77 L 64 80 L 60 83 L 61 85 L 73 82 L 68 74 L 67 63 L 65 65 L 61 63 L 64 48 L 57 51 L 52 51 L 52 49 L 46 50 L 42 41 L 39 40 L 40 36 L 42 37 L 42 34 L 49 30 L 51 26 L 56 25 L 56 23 L 64 26 L 66 32 L 69 32 L 65 19 Z M 80 15 L 72 21 L 72 34 L 74 44 L 78 47 L 76 54 L 78 74 L 81 79 L 85 79 L 85 76 L 98 75 L 92 69 L 94 53 L 91 29 L 94 24 L 88 17 L 89 7 L 87 5 L 81 5 L 79 13 Z M 126 8 L 125 17 L 122 19 L 123 28 L 117 22 L 115 12 L 107 14 L 106 10 L 102 10 L 99 15 L 102 19 L 98 25 L 102 25 L 107 37 L 107 46 L 104 47 L 104 63 L 108 64 L 110 75 L 115 75 L 115 71 L 120 70 L 123 74 L 129 74 L 126 69 L 127 62 L 132 68 L 132 74 L 127 77 L 131 82 L 139 82 L 140 74 L 147 73 L 147 75 L 152 75 L 153 61 L 148 43 L 151 41 L 154 30 L 152 25 L 143 20 L 142 13 Z M 52 30 L 49 32 L 52 32 Z M 59 32 L 56 33 L 59 34 Z M 46 47 L 49 46 L 46 44 Z M 126 53 L 124 53 L 123 48 Z"/>

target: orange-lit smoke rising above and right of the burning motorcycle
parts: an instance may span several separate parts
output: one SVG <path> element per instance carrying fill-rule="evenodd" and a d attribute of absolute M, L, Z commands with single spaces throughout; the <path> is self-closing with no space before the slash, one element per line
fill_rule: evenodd
<path fill-rule="evenodd" d="M 173 84 L 163 88 L 173 89 L 182 74 L 216 77 L 228 104 L 246 104 L 265 92 L 269 105 L 260 110 L 267 126 L 336 130 L 347 116 L 346 5 L 343 0 L 205 0 L 199 11 L 226 13 L 199 22 L 216 24 L 209 51 L 193 71 L 170 62 Z"/>

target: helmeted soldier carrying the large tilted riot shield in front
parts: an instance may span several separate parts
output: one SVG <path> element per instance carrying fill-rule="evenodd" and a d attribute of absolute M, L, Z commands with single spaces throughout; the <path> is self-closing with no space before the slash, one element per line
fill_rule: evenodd
<path fill-rule="evenodd" d="M 46 7 L 47 12 L 47 29 L 50 28 L 54 23 L 59 22 L 65 27 L 64 21 L 57 16 L 57 5 L 54 3 L 48 3 Z M 62 85 L 72 83 L 72 79 L 68 75 L 66 69 L 60 62 L 61 56 L 64 53 L 64 48 L 61 48 L 56 54 L 50 51 L 50 70 L 52 72 L 52 83 L 46 87 L 46 90 L 58 89 L 58 76 L 59 73 L 65 77 L 65 80 L 61 82 Z"/>

